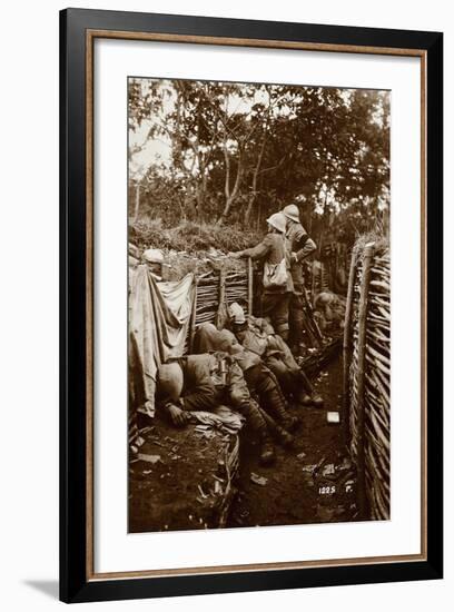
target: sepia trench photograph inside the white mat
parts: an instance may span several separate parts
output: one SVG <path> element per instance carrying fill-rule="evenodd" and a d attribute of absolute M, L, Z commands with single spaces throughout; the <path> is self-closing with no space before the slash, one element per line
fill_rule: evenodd
<path fill-rule="evenodd" d="M 128 78 L 129 533 L 389 520 L 389 107 Z"/>

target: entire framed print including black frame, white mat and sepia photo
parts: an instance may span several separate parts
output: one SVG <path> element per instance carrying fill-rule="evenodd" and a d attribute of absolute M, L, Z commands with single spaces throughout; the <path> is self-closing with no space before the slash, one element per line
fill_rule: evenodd
<path fill-rule="evenodd" d="M 442 578 L 438 32 L 60 16 L 60 596 Z"/>

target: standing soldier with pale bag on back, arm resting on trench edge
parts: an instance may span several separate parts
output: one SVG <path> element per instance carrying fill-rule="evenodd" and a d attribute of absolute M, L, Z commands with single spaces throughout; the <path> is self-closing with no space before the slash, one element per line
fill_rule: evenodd
<path fill-rule="evenodd" d="M 260 244 L 230 253 L 231 257 L 250 257 L 264 261 L 261 316 L 269 317 L 276 333 L 288 338 L 288 304 L 293 292 L 290 259 L 285 245 L 286 218 L 275 213 L 267 219 L 268 234 Z"/>

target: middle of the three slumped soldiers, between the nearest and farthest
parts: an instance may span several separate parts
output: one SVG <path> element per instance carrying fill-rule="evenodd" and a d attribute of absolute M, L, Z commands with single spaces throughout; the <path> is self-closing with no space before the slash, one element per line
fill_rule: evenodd
<path fill-rule="evenodd" d="M 194 352 L 208 353 L 223 351 L 231 355 L 240 366 L 250 393 L 256 394 L 264 411 L 275 421 L 280 423 L 287 432 L 294 431 L 299 425 L 297 417 L 287 412 L 287 403 L 280 389 L 276 376 L 264 364 L 258 355 L 245 349 L 228 329 L 217 329 L 213 323 L 203 323 L 196 333 Z M 279 441 L 285 445 L 290 440 L 284 432 L 276 432 Z"/>

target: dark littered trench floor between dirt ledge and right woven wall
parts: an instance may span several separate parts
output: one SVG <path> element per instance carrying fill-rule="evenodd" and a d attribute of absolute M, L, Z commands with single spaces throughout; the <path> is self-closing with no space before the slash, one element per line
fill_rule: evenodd
<path fill-rule="evenodd" d="M 340 357 L 328 364 L 314 383 L 325 405 L 323 408 L 292 408 L 303 424 L 293 450 L 276 446 L 276 465 L 261 467 L 257 462 L 257 447 L 240 446 L 238 495 L 227 526 L 355 519 L 356 477 L 343 444 L 342 425 L 328 424 L 326 419 L 327 411 L 340 412 Z"/>

